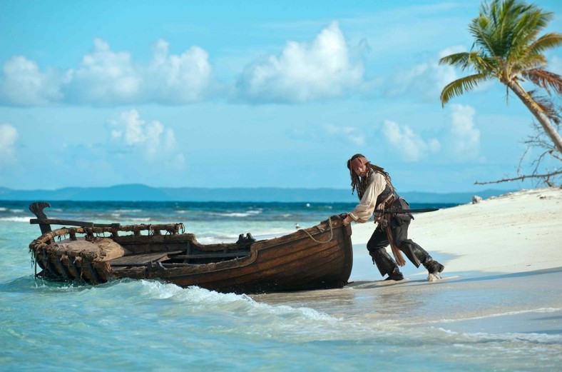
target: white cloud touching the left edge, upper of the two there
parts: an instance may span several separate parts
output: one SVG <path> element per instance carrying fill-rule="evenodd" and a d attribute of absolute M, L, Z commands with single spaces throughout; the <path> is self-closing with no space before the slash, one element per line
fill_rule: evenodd
<path fill-rule="evenodd" d="M 4 82 L 0 86 L 2 101 L 15 105 L 44 105 L 61 98 L 61 80 L 51 71 L 39 71 L 34 61 L 14 56 L 2 68 Z"/>

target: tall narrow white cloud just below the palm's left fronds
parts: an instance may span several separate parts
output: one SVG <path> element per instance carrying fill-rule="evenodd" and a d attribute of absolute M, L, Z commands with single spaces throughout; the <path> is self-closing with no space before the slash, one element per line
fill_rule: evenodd
<path fill-rule="evenodd" d="M 480 130 L 474 126 L 476 111 L 471 106 L 451 104 L 451 144 L 457 159 L 479 158 Z"/>

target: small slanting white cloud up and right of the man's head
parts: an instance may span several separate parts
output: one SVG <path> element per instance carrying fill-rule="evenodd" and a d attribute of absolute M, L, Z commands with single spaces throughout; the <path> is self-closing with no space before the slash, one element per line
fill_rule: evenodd
<path fill-rule="evenodd" d="M 436 139 L 425 141 L 422 137 L 409 128 L 402 128 L 394 121 L 385 120 L 382 133 L 389 143 L 394 147 L 396 154 L 402 156 L 405 161 L 419 161 L 429 153 L 441 149 L 441 144 Z"/>

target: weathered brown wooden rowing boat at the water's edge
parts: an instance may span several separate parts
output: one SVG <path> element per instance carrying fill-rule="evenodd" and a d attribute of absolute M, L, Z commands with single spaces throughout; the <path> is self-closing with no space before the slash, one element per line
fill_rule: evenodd
<path fill-rule="evenodd" d="M 42 235 L 29 245 L 35 275 L 98 284 L 160 279 L 219 292 L 267 293 L 341 288 L 352 270 L 351 227 L 343 216 L 279 238 L 198 243 L 183 223 L 121 226 L 47 218 L 46 202 L 29 206 Z M 71 227 L 51 231 L 51 225 Z M 37 265 L 42 269 L 37 273 Z"/>

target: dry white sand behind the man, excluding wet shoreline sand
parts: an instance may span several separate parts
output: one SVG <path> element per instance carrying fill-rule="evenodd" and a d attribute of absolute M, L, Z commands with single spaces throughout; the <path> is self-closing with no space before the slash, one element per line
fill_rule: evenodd
<path fill-rule="evenodd" d="M 446 266 L 444 276 L 464 271 L 519 273 L 562 266 L 562 188 L 518 191 L 414 217 L 409 238 L 434 258 L 445 257 L 439 259 Z M 374 226 L 372 221 L 352 223 L 352 279 L 380 279 L 366 248 Z M 426 275 L 421 269 L 407 261 L 403 271 Z"/>

